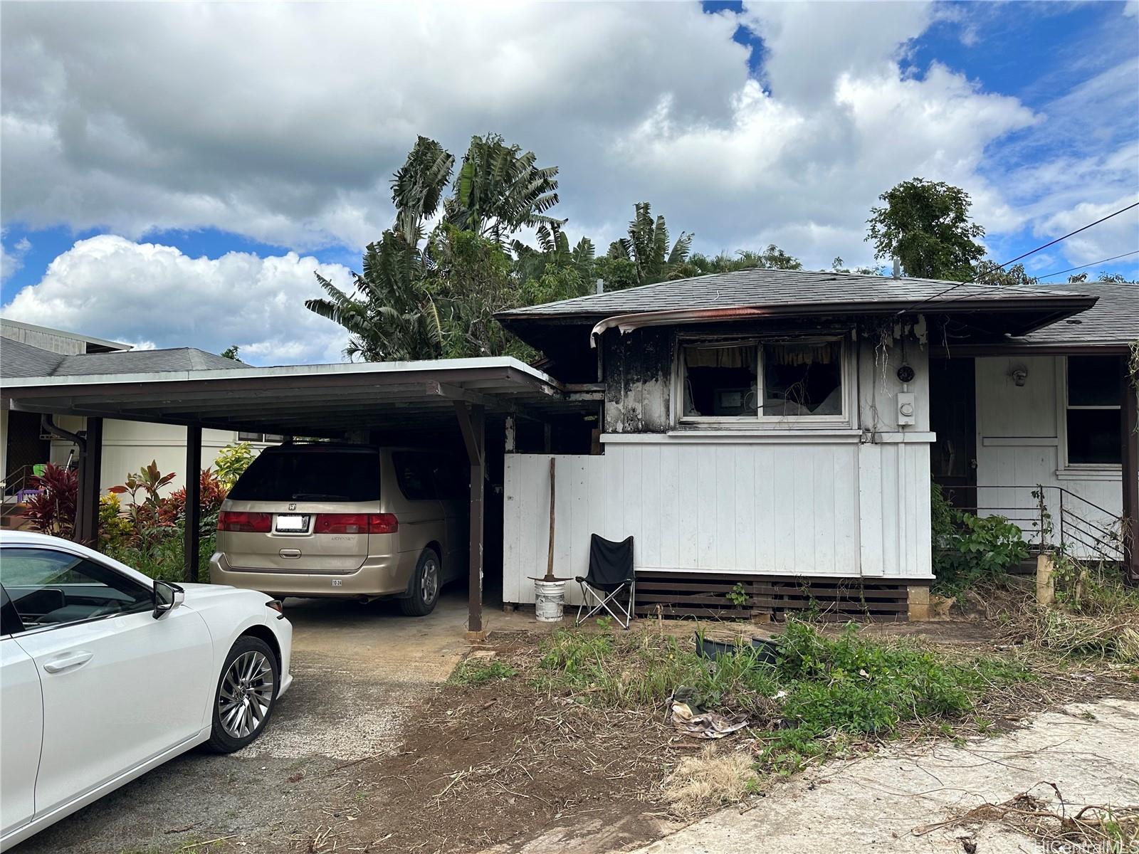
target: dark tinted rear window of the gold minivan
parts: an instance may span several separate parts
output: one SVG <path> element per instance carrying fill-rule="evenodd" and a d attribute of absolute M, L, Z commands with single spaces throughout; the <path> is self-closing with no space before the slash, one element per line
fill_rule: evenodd
<path fill-rule="evenodd" d="M 377 451 L 264 451 L 245 470 L 235 501 L 378 501 Z"/>

